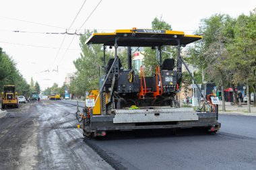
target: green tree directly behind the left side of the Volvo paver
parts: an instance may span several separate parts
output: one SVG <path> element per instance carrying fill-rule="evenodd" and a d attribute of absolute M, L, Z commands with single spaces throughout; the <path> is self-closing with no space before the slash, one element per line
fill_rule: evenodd
<path fill-rule="evenodd" d="M 96 30 L 94 30 L 96 32 Z M 99 88 L 99 69 L 103 73 L 103 48 L 102 44 L 92 44 L 88 46 L 85 44 L 86 40 L 90 38 L 92 32 L 86 30 L 85 34 L 80 36 L 80 48 L 82 53 L 77 60 L 73 61 L 77 69 L 77 77 L 69 86 L 69 93 L 77 97 L 86 95 L 86 91 Z M 119 52 L 118 54 L 123 68 L 127 68 L 127 51 Z M 113 52 L 106 51 L 106 63 L 110 57 L 114 57 Z"/>

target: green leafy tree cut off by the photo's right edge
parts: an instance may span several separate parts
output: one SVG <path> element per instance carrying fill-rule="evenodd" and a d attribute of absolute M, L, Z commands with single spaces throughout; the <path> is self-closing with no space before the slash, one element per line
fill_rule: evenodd
<path fill-rule="evenodd" d="M 255 86 L 256 69 L 256 15 L 239 15 L 234 25 L 234 39 L 228 44 L 230 58 L 229 68 L 234 70 L 234 84 L 243 83 L 247 86 L 247 99 L 250 101 L 250 87 Z M 247 102 L 251 112 L 250 102 Z"/>

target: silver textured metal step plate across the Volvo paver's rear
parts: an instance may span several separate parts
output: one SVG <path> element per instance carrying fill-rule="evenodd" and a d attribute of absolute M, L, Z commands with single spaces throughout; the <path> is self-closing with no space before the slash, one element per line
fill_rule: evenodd
<path fill-rule="evenodd" d="M 193 110 L 184 108 L 154 110 L 115 110 L 114 123 L 174 122 L 198 120 Z"/>

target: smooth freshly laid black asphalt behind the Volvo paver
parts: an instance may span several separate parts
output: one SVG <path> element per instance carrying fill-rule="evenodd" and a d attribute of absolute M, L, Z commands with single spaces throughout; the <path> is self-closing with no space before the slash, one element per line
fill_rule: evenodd
<path fill-rule="evenodd" d="M 93 144 L 127 169 L 256 169 L 256 117 L 220 115 L 219 121 L 216 135 L 131 135 Z"/>

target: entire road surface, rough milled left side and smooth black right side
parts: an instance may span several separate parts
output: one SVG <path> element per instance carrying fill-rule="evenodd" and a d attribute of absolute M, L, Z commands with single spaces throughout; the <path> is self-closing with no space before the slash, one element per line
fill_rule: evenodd
<path fill-rule="evenodd" d="M 256 117 L 220 115 L 216 135 L 148 130 L 88 140 L 75 128 L 75 102 L 67 102 L 7 109 L 0 169 L 256 169 Z"/>

